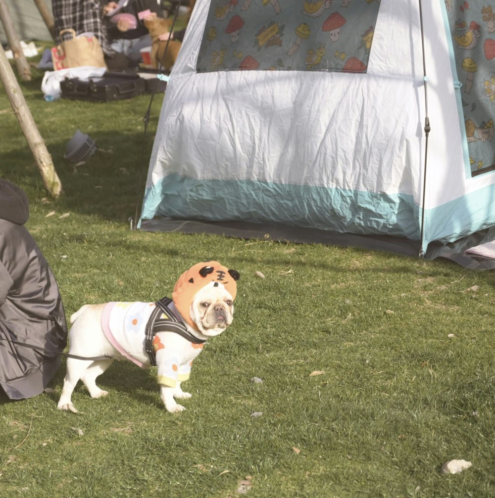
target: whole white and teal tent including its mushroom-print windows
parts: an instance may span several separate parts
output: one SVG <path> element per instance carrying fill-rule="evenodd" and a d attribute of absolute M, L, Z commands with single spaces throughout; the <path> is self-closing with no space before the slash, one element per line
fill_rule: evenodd
<path fill-rule="evenodd" d="M 423 252 L 494 226 L 494 151 L 480 133 L 495 114 L 485 48 L 495 35 L 483 1 L 463 5 L 199 0 L 167 84 L 140 225 L 165 217 L 423 235 Z M 244 23 L 232 40 L 235 16 Z M 323 28 L 331 16 L 346 19 L 336 39 Z M 267 29 L 275 40 L 260 47 Z M 459 48 L 478 33 L 477 46 Z M 323 45 L 327 61 L 303 68 L 301 55 L 313 60 Z M 459 75 L 466 57 L 478 71 Z M 358 71 L 344 69 L 352 58 Z"/>

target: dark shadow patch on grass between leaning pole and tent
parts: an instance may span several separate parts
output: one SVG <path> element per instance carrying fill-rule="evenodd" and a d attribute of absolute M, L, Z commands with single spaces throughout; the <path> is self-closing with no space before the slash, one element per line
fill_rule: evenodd
<path fill-rule="evenodd" d="M 141 209 L 153 134 L 81 131 L 95 140 L 98 150 L 77 167 L 63 157 L 67 142 L 47 144 L 63 188 L 53 206 L 57 210 L 94 215 L 108 221 L 127 221 L 135 216 L 137 206 L 138 213 Z M 19 179 L 17 183 L 22 184 L 31 204 L 49 197 L 27 147 L 5 152 L 1 169 L 1 176 L 13 182 Z"/>

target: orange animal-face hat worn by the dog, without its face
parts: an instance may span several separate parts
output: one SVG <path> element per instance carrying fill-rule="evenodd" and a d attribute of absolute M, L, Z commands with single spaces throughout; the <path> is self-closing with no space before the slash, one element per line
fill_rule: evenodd
<path fill-rule="evenodd" d="M 221 283 L 235 299 L 239 272 L 229 270 L 218 261 L 205 261 L 191 266 L 175 282 L 172 301 L 182 318 L 195 330 L 196 324 L 189 316 L 189 309 L 196 293 L 210 282 Z"/>

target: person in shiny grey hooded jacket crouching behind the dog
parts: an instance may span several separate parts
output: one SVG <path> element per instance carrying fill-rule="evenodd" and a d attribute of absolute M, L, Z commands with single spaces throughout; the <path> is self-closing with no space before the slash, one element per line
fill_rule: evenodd
<path fill-rule="evenodd" d="M 10 399 L 43 392 L 67 344 L 60 292 L 28 218 L 25 193 L 0 178 L 0 386 Z"/>

